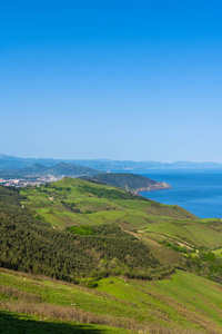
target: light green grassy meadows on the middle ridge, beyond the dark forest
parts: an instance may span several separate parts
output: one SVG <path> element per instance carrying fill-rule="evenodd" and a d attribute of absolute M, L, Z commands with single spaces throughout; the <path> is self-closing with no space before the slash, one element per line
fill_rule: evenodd
<path fill-rule="evenodd" d="M 37 210 L 54 227 L 71 225 L 98 225 L 118 223 L 123 229 L 137 229 L 141 236 L 157 242 L 182 243 L 186 247 L 222 247 L 222 222 L 220 219 L 198 219 L 194 215 L 176 205 L 162 205 L 155 202 L 135 199 L 98 198 L 87 191 L 85 185 L 94 189 L 114 189 L 80 179 L 64 178 L 53 184 L 57 188 L 26 188 L 21 194 L 29 200 L 24 206 Z M 67 190 L 69 188 L 69 190 Z M 123 193 L 122 190 L 119 190 Z M 54 200 L 50 200 L 53 197 Z M 61 204 L 74 203 L 74 213 Z M 91 214 L 85 213 L 90 210 Z"/>

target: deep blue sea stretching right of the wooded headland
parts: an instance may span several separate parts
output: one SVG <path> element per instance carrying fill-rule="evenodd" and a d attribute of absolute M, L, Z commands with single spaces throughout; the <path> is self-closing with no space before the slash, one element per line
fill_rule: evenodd
<path fill-rule="evenodd" d="M 163 204 L 178 204 L 199 218 L 222 218 L 222 169 L 153 168 L 129 170 L 129 173 L 165 181 L 172 187 L 164 190 L 142 191 L 141 195 L 147 198 Z"/>

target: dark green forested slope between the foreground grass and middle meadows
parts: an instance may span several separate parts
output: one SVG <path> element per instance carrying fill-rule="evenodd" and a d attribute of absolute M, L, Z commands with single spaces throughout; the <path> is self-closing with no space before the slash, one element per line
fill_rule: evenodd
<path fill-rule="evenodd" d="M 1 267 L 69 282 L 115 274 L 151 279 L 172 271 L 161 266 L 145 244 L 117 225 L 94 226 L 88 228 L 90 233 L 54 230 L 20 206 L 19 199 L 18 191 L 0 187 Z"/>

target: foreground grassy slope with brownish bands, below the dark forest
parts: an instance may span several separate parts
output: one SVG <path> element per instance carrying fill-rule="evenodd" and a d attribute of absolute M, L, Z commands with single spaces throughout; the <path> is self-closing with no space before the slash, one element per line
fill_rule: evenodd
<path fill-rule="evenodd" d="M 42 327 L 48 333 L 50 326 L 54 333 L 62 333 L 62 326 L 74 333 L 128 333 L 130 328 L 135 333 L 222 333 L 221 285 L 183 272 L 155 282 L 109 277 L 98 281 L 95 289 L 87 289 L 1 269 L 0 308 L 13 312 L 1 312 L 0 325 L 7 318 L 12 321 L 8 326 L 13 322 L 28 326 L 31 321 L 37 323 L 36 333 Z"/>

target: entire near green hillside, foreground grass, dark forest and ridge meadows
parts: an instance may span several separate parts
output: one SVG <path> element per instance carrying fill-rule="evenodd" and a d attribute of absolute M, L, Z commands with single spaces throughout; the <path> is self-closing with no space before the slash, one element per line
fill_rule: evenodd
<path fill-rule="evenodd" d="M 222 333 L 221 248 L 220 219 L 111 186 L 0 186 L 0 326 Z"/>

